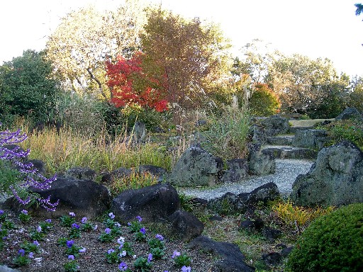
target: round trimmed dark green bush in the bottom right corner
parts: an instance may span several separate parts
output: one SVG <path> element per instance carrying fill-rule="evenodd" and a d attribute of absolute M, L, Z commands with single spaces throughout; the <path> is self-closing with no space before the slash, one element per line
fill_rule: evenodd
<path fill-rule="evenodd" d="M 288 271 L 363 271 L 363 203 L 319 217 L 296 242 Z"/>

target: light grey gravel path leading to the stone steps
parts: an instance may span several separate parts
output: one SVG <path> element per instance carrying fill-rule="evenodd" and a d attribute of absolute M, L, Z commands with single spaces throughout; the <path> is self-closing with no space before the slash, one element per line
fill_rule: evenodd
<path fill-rule="evenodd" d="M 299 174 L 306 174 L 313 162 L 306 159 L 276 159 L 276 172 L 267 176 L 251 176 L 250 179 L 239 183 L 225 183 L 211 189 L 205 188 L 181 188 L 186 196 L 193 196 L 211 200 L 219 198 L 225 193 L 249 193 L 265 183 L 274 182 L 279 187 L 280 193 L 287 196 L 292 191 L 292 184 Z"/>

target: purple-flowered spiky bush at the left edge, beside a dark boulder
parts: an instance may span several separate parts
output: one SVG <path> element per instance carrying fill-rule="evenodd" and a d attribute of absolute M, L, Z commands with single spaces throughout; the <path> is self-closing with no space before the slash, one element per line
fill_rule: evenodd
<path fill-rule="evenodd" d="M 26 139 L 27 135 L 22 134 L 21 130 L 0 131 L 0 193 L 12 194 L 22 205 L 36 204 L 48 211 L 54 211 L 58 201 L 51 203 L 50 196 L 41 198 L 38 193 L 28 191 L 30 186 L 39 190 L 48 189 L 57 177 L 47 179 L 31 162 L 26 162 L 30 149 L 23 151 L 16 146 Z"/>

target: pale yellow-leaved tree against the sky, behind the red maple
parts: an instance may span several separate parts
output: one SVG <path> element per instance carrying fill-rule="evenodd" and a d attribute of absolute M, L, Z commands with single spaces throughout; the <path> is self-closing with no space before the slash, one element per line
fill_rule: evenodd
<path fill-rule="evenodd" d="M 67 87 L 109 98 L 105 60 L 129 56 L 140 47 L 144 21 L 138 0 L 126 0 L 116 11 L 99 12 L 91 6 L 72 11 L 50 35 L 47 56 Z"/>

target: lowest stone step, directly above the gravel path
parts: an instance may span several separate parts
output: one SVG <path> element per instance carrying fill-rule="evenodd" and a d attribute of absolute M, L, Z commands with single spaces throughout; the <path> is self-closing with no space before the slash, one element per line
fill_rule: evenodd
<path fill-rule="evenodd" d="M 302 147 L 291 147 L 289 145 L 265 145 L 262 147 L 264 154 L 272 154 L 275 159 L 313 159 L 318 152 Z"/>

